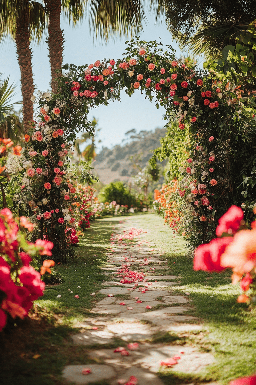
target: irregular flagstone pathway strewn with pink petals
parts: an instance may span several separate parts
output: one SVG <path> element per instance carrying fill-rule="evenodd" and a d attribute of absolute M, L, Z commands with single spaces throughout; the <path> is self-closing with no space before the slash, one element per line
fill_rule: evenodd
<path fill-rule="evenodd" d="M 63 377 L 75 384 L 107 379 L 111 385 L 163 385 L 156 374 L 159 371 L 199 373 L 214 362 L 210 353 L 199 352 L 188 344 L 151 342 L 156 333 L 184 335 L 200 331 L 202 325 L 196 317 L 186 315 L 191 310 L 189 293 L 172 293 L 179 277 L 158 274 L 167 269 L 164 255 L 154 254 L 149 241 L 140 239 L 143 231 L 132 228 L 132 224 L 132 217 L 120 221 L 117 233 L 112 234 L 107 266 L 102 268 L 109 281 L 104 281 L 99 291 L 106 297 L 92 308 L 95 318 L 80 325 L 88 330 L 72 337 L 75 344 L 88 345 L 89 357 L 97 362 L 65 367 Z M 120 350 L 126 352 L 124 355 L 102 346 L 115 343 L 117 338 L 123 341 Z M 129 345 L 135 342 L 138 344 Z M 95 344 L 102 348 L 93 349 Z M 160 364 L 170 358 L 177 363 L 169 367 Z M 81 374 L 84 367 L 91 374 Z"/>

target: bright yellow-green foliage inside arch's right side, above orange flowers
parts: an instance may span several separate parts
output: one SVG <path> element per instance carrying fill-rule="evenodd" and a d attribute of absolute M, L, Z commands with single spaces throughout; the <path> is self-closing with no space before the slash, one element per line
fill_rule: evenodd
<path fill-rule="evenodd" d="M 160 162 L 168 159 L 167 166 L 165 167 L 165 178 L 167 180 L 180 179 L 182 175 L 182 164 L 188 157 L 185 149 L 188 138 L 188 127 L 180 130 L 177 121 L 170 122 L 167 125 L 166 136 L 160 139 L 161 146 L 155 149 L 149 161 L 152 167 L 156 167 L 157 158 Z"/>

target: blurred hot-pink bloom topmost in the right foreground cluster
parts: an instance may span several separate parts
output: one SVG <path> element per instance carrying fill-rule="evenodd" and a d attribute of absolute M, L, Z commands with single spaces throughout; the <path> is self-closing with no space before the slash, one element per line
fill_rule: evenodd
<path fill-rule="evenodd" d="M 219 224 L 216 228 L 216 236 L 220 237 L 222 233 L 236 233 L 243 218 L 243 210 L 238 206 L 231 206 L 228 211 L 219 219 Z"/>

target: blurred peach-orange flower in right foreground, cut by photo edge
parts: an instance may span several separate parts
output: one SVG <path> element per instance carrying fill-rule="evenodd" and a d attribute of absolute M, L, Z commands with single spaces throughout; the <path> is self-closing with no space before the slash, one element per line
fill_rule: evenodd
<path fill-rule="evenodd" d="M 221 255 L 222 267 L 233 268 L 232 283 L 238 283 L 244 273 L 256 273 L 256 228 L 241 230 Z"/>

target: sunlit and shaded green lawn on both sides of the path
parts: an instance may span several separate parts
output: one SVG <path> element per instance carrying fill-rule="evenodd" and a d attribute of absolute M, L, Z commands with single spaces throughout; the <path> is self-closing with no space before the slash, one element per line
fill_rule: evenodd
<path fill-rule="evenodd" d="M 9 325 L 2 333 L 0 383 L 65 385 L 61 378 L 64 365 L 93 362 L 88 359 L 88 347 L 73 345 L 70 335 L 80 330 L 79 323 L 84 316 L 92 316 L 89 310 L 104 297 L 90 294 L 99 290 L 102 281 L 107 280 L 101 274 L 101 267 L 107 260 L 106 248 L 110 247 L 112 228 L 124 218 L 104 218 L 92 223 L 76 248 L 77 258 L 56 266 L 64 282 L 48 286 L 45 295 L 36 301 L 31 316 Z M 193 260 L 186 257 L 185 242 L 173 235 L 170 228 L 163 225 L 163 219 L 155 214 L 129 216 L 127 221 L 130 227 L 148 230 L 140 235 L 140 239 L 149 240 L 155 253 L 163 253 L 164 262 L 167 259 L 168 264 L 161 274 L 180 277 L 172 291 L 190 293 L 190 313 L 203 323 L 201 332 L 177 333 L 176 336 L 165 333 L 154 336 L 152 341 L 191 343 L 213 352 L 216 357 L 216 364 L 200 376 L 168 371 L 160 374 L 165 384 L 210 380 L 226 384 L 233 378 L 253 373 L 256 366 L 256 314 L 245 304 L 236 303 L 241 290 L 239 285 L 231 285 L 230 271 L 193 271 Z M 61 298 L 56 298 L 59 294 Z M 76 294 L 79 299 L 74 298 Z M 118 345 L 120 341 L 116 340 L 111 346 Z"/>

